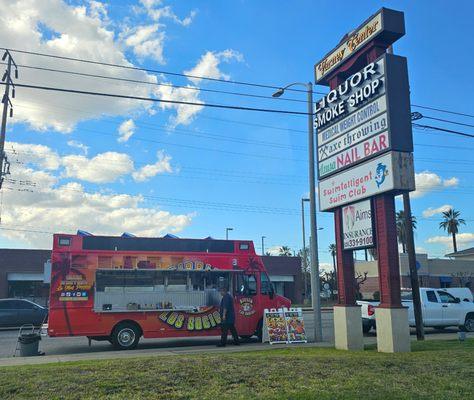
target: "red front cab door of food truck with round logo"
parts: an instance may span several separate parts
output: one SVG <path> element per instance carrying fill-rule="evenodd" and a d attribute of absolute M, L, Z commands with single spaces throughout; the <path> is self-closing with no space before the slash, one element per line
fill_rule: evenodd
<path fill-rule="evenodd" d="M 261 317 L 257 280 L 254 273 L 237 273 L 234 278 L 235 327 L 240 336 L 253 335 Z"/>

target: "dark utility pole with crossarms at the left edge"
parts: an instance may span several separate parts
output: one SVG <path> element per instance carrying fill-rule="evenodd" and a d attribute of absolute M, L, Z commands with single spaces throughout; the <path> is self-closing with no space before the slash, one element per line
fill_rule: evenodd
<path fill-rule="evenodd" d="M 2 82 L 5 82 L 5 93 L 2 98 L 3 103 L 3 114 L 2 114 L 2 127 L 0 131 L 0 189 L 2 188 L 3 179 L 5 175 L 10 173 L 10 163 L 5 155 L 5 136 L 7 132 L 7 118 L 8 118 L 8 106 L 10 106 L 10 118 L 13 117 L 13 105 L 10 100 L 10 86 L 12 86 L 12 97 L 15 98 L 15 84 L 11 78 L 12 65 L 15 66 L 15 78 L 18 79 L 18 67 L 13 60 L 12 55 L 8 50 L 2 57 L 2 61 L 7 61 L 7 70 L 3 74 Z"/>

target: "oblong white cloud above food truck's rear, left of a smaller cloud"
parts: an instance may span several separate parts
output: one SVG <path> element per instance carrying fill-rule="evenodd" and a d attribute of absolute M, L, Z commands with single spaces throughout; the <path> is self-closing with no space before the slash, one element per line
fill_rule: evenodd
<path fill-rule="evenodd" d="M 93 183 L 114 182 L 133 172 L 133 161 L 129 155 L 108 151 L 93 158 L 69 155 L 62 158 L 64 176 Z"/>

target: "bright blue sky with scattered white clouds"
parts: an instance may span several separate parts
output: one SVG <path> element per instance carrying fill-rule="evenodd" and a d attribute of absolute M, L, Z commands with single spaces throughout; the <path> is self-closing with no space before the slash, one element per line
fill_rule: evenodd
<path fill-rule="evenodd" d="M 445 1 L 9 1 L 1 46 L 160 71 L 285 85 L 312 81 L 313 65 L 381 6 L 405 12 L 407 34 L 394 46 L 408 58 L 412 104 L 472 114 L 471 2 Z M 271 89 L 191 80 L 13 53 L 22 65 L 151 83 L 270 96 Z M 286 101 L 169 86 L 38 72 L 18 83 L 162 99 L 305 111 L 304 93 Z M 326 88 L 316 87 L 317 92 Z M 320 95 L 316 95 L 316 98 Z M 2 200 L 0 246 L 49 247 L 47 233 L 173 232 L 181 237 L 253 239 L 260 251 L 301 248 L 300 199 L 308 194 L 304 116 L 166 107 L 136 101 L 19 88 L 6 151 L 11 176 Z M 413 107 L 425 116 L 472 119 Z M 424 119 L 427 125 L 472 132 Z M 276 129 L 275 129 L 276 128 Z M 472 139 L 414 131 L 419 190 L 416 246 L 450 251 L 440 207 L 466 219 L 459 248 L 474 243 Z M 27 182 L 28 181 L 28 182 Z M 397 202 L 400 207 L 401 203 Z M 430 209 L 432 210 L 430 212 Z M 321 260 L 330 262 L 333 218 L 318 213 Z"/>

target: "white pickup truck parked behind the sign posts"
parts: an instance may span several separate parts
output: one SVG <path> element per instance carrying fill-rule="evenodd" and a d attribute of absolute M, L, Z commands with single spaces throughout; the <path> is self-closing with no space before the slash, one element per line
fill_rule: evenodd
<path fill-rule="evenodd" d="M 458 326 L 465 331 L 474 332 L 474 303 L 461 301 L 448 292 L 449 289 L 420 288 L 423 325 L 437 329 Z M 467 300 L 467 299 L 466 299 Z M 358 300 L 362 306 L 362 327 L 364 333 L 375 329 L 375 308 L 378 301 Z M 413 299 L 411 292 L 402 292 L 402 305 L 408 308 L 408 323 L 415 326 Z"/>

